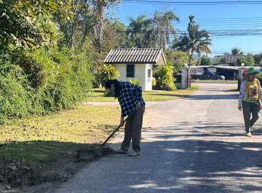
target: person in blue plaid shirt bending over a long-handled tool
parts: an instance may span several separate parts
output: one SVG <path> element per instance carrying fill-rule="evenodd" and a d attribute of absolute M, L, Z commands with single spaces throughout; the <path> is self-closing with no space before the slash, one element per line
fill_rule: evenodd
<path fill-rule="evenodd" d="M 115 152 L 127 154 L 132 139 L 133 152 L 130 156 L 137 156 L 141 152 L 141 128 L 143 123 L 143 113 L 145 112 L 145 101 L 142 98 L 142 88 L 129 82 L 108 80 L 105 82 L 114 97 L 118 99 L 121 106 L 120 125 L 123 126 L 123 118 L 130 115 L 125 123 L 125 137 L 121 143 L 121 148 Z M 133 112 L 133 113 L 132 113 Z"/>

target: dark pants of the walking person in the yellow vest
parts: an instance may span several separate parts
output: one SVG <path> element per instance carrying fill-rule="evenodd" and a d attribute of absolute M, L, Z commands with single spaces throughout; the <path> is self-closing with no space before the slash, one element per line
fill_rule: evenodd
<path fill-rule="evenodd" d="M 243 115 L 245 121 L 245 131 L 248 133 L 250 132 L 250 127 L 252 127 L 254 123 L 256 123 L 257 119 L 259 119 L 260 116 L 259 102 L 248 103 L 243 101 L 242 106 L 243 106 Z M 250 120 L 251 114 L 252 114 L 252 119 Z"/>

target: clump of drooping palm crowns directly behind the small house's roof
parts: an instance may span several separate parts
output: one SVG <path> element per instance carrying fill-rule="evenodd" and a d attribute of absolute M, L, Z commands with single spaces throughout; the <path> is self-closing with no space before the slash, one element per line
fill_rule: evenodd
<path fill-rule="evenodd" d="M 158 10 L 154 12 L 152 18 L 149 18 L 148 14 L 143 14 L 137 19 L 130 17 L 129 20 L 128 47 L 164 50 L 170 43 L 170 35 L 177 37 L 172 21 L 180 21 L 174 12 Z"/>

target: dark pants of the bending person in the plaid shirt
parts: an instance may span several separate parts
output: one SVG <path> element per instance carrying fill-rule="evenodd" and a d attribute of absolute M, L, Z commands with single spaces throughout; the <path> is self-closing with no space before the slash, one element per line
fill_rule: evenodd
<path fill-rule="evenodd" d="M 121 144 L 122 150 L 128 150 L 132 139 L 132 148 L 137 152 L 141 151 L 141 128 L 143 123 L 143 113 L 145 112 L 145 105 L 141 106 L 140 109 L 136 110 L 132 116 L 128 118 L 125 123 L 125 138 Z"/>

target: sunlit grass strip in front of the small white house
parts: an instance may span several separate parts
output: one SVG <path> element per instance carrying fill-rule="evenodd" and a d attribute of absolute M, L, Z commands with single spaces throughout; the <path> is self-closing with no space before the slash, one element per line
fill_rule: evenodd
<path fill-rule="evenodd" d="M 192 85 L 191 89 L 185 90 L 174 90 L 174 91 L 165 91 L 165 90 L 154 90 L 154 91 L 145 91 L 143 92 L 143 99 L 146 101 L 170 101 L 174 99 L 184 98 L 189 96 L 194 90 L 197 90 L 196 85 Z M 94 89 L 94 92 L 90 92 L 90 97 L 88 101 L 91 102 L 113 102 L 117 101 L 112 96 L 105 96 L 104 88 Z"/>

